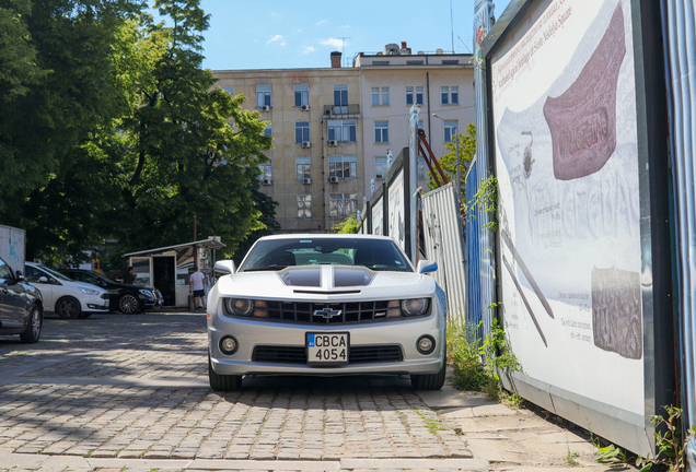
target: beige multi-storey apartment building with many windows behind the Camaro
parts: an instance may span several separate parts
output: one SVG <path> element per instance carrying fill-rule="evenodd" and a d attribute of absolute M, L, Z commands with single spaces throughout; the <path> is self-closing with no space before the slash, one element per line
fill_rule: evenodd
<path fill-rule="evenodd" d="M 213 74 L 219 86 L 243 94 L 245 108 L 270 122 L 265 132 L 274 138 L 274 149 L 259 178 L 262 190 L 279 203 L 282 231 L 323 233 L 362 208 L 372 179 L 376 186 L 383 181 L 386 150 L 396 157 L 408 145 L 413 103 L 422 106 L 426 132 L 433 130 L 436 155 L 444 153 L 452 123 L 474 122 L 468 59 L 440 50 L 411 55 L 403 44 L 361 52 L 352 68 L 341 68 L 341 54 L 334 51 L 329 68 Z M 431 122 L 433 111 L 449 125 Z M 421 165 L 424 182 L 426 172 Z"/>

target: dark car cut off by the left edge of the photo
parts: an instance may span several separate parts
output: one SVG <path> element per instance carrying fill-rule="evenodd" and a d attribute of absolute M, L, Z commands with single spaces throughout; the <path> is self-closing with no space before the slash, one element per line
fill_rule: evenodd
<path fill-rule="evenodd" d="M 0 259 L 0 334 L 19 334 L 23 343 L 35 343 L 43 326 L 42 293 Z"/>

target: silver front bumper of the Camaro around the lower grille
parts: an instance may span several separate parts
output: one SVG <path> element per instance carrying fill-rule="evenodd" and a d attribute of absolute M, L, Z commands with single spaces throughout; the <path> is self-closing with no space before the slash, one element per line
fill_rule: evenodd
<path fill-rule="evenodd" d="M 437 311 L 437 310 L 434 310 Z M 305 347 L 308 332 L 349 332 L 351 347 L 398 346 L 403 361 L 361 362 L 338 366 L 316 366 L 301 362 L 259 362 L 254 359 L 255 349 L 279 346 L 298 351 Z M 417 340 L 429 334 L 436 340 L 431 354 L 420 354 Z M 232 355 L 220 351 L 220 339 L 232 335 L 239 347 Z M 445 356 L 445 320 L 440 314 L 399 321 L 379 321 L 346 324 L 298 324 L 288 322 L 240 319 L 222 314 L 208 320 L 210 362 L 217 374 L 222 375 L 364 375 L 364 374 L 436 374 Z"/>

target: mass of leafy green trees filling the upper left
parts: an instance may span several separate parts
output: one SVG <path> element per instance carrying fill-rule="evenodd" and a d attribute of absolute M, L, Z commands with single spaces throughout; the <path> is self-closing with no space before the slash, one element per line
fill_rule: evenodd
<path fill-rule="evenodd" d="M 27 229 L 28 259 L 79 258 L 107 237 L 121 252 L 189 241 L 193 215 L 197 237 L 221 236 L 231 256 L 275 227 L 256 178 L 272 143 L 244 97 L 202 69 L 209 16 L 199 0 L 156 0 L 161 22 L 142 7 L 0 0 L 23 25 L 0 20 L 0 42 L 5 31 L 24 38 L 0 51 L 0 64 L 16 64 L 0 72 L 0 160 L 11 168 L 0 220 Z"/>

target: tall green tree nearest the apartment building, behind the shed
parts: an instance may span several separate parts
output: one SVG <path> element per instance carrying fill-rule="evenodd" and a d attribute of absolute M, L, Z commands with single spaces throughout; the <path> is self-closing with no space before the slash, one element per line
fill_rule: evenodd
<path fill-rule="evenodd" d="M 120 199 L 105 220 L 127 222 L 112 234 L 128 250 L 192 240 L 195 214 L 198 235 L 221 236 L 231 256 L 265 227 L 253 185 L 272 142 L 258 114 L 242 109 L 244 97 L 216 87 L 201 68 L 209 16 L 199 2 L 158 0 L 155 8 L 166 23 L 144 16 L 139 33 L 127 33 L 136 42 L 119 76 L 131 90 L 130 110 L 111 149 Z"/>

